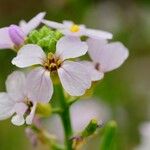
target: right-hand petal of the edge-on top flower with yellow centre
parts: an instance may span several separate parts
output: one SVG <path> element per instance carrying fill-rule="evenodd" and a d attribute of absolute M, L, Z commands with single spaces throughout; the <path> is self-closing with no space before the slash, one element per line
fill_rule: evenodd
<path fill-rule="evenodd" d="M 113 37 L 112 33 L 94 29 L 86 29 L 85 35 L 94 39 L 112 39 Z"/>

